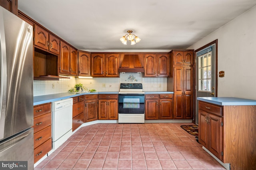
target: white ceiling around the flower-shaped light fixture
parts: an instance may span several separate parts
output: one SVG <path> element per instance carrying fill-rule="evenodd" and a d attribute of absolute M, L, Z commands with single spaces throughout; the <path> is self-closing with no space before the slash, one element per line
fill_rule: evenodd
<path fill-rule="evenodd" d="M 186 49 L 256 0 L 19 0 L 18 9 L 86 51 Z M 133 30 L 141 41 L 124 45 Z"/>

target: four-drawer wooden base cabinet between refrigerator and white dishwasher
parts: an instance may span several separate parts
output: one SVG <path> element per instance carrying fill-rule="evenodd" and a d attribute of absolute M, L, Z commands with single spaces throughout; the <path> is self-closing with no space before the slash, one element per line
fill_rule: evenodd
<path fill-rule="evenodd" d="M 51 103 L 34 106 L 34 163 L 52 149 Z"/>

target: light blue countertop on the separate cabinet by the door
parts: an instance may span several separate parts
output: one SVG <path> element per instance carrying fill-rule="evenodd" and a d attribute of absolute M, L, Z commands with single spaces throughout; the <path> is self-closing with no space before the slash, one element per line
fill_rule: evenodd
<path fill-rule="evenodd" d="M 197 97 L 199 101 L 205 101 L 220 106 L 248 106 L 256 105 L 256 100 L 236 97 Z"/>

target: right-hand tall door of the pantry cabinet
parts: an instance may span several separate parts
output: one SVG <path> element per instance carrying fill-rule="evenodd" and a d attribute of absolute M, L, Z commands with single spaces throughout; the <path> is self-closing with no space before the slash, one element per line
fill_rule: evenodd
<path fill-rule="evenodd" d="M 193 67 L 184 67 L 184 119 L 193 118 Z"/>

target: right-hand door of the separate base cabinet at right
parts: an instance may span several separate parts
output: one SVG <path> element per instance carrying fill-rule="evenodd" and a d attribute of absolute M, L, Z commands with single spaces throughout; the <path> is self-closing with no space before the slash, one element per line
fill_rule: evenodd
<path fill-rule="evenodd" d="M 222 131 L 223 127 L 221 125 L 222 123 L 222 117 L 208 114 L 209 119 L 209 129 L 208 129 L 208 150 L 212 152 L 217 158 L 220 160 L 223 160 L 221 152 L 223 150 L 222 146 Z"/>

